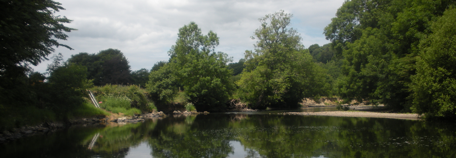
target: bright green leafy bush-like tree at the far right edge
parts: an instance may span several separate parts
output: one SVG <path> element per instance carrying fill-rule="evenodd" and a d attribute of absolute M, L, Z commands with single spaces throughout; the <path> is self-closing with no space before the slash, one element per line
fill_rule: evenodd
<path fill-rule="evenodd" d="M 413 111 L 426 119 L 456 118 L 456 9 L 444 12 L 420 42 L 412 76 Z"/>

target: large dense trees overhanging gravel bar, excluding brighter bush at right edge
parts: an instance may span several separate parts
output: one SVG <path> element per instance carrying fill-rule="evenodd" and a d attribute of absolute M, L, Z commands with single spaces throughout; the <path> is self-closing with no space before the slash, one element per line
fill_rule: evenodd
<path fill-rule="evenodd" d="M 452 0 L 351 0 L 326 26 L 335 56 L 343 61 L 337 84 L 347 100 L 383 103 L 409 111 L 420 41 Z M 454 35 L 449 35 L 454 36 Z"/>

